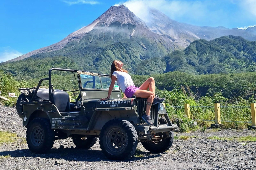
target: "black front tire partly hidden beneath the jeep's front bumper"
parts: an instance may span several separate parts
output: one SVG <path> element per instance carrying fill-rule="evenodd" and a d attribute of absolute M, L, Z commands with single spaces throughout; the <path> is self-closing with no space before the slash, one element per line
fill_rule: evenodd
<path fill-rule="evenodd" d="M 162 139 L 158 143 L 148 141 L 148 142 L 141 142 L 141 144 L 144 146 L 145 149 L 147 149 L 150 152 L 162 153 L 167 151 L 172 146 L 173 139 L 174 139 L 173 131 L 170 131 L 170 135 L 171 135 L 170 137 Z"/>

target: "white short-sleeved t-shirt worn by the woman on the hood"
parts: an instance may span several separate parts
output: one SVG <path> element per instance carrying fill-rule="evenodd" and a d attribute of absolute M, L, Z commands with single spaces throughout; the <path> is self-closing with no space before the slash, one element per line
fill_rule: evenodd
<path fill-rule="evenodd" d="M 123 92 L 127 87 L 134 86 L 132 77 L 128 73 L 123 71 L 114 71 L 112 75 L 116 77 L 116 82 Z"/>

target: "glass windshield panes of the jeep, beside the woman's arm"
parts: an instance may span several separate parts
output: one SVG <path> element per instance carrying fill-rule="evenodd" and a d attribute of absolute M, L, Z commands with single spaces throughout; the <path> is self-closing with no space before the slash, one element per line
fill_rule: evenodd
<path fill-rule="evenodd" d="M 105 89 L 107 90 L 111 84 L 111 78 L 108 76 L 96 76 L 80 74 L 81 85 L 83 89 Z M 120 90 L 115 82 L 113 90 Z"/>

